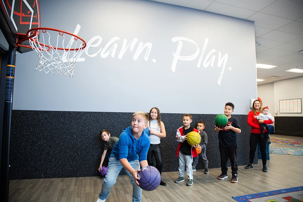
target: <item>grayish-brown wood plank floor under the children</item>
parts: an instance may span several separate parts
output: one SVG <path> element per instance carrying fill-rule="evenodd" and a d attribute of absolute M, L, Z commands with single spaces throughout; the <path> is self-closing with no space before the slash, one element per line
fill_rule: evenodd
<path fill-rule="evenodd" d="M 279 135 L 271 137 L 303 139 Z M 278 147 L 284 145 L 278 144 Z M 303 156 L 270 154 L 270 158 L 267 173 L 262 172 L 261 160 L 249 170 L 244 169 L 245 166 L 239 166 L 238 183 L 230 182 L 230 167 L 229 177 L 225 180 L 217 179 L 221 174 L 220 168 L 210 169 L 209 174 L 204 174 L 202 170 L 194 172 L 194 184 L 191 187 L 186 186 L 186 180 L 174 183 L 178 172 L 162 173 L 167 186 L 159 186 L 150 192 L 143 191 L 142 202 L 235 201 L 232 196 L 303 186 Z M 10 180 L 9 201 L 94 202 L 98 198 L 102 181 L 101 177 Z M 118 177 L 107 202 L 126 201 L 132 201 L 132 185 L 124 175 Z"/>

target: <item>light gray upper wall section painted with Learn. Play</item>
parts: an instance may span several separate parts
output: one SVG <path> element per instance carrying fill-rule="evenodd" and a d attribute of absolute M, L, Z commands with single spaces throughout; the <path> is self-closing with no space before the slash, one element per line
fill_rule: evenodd
<path fill-rule="evenodd" d="M 257 97 L 251 21 L 144 0 L 44 0 L 40 9 L 42 27 L 74 32 L 79 24 L 78 35 L 86 42 L 96 36 L 102 41 L 91 41 L 73 78 L 33 71 L 35 51 L 18 53 L 15 110 L 134 112 L 157 106 L 165 113 L 218 114 L 231 101 L 237 114 L 247 114 L 249 99 Z M 115 37 L 120 39 L 108 44 Z M 134 38 L 133 51 L 118 58 L 123 41 Z M 145 48 L 134 60 L 140 42 L 150 43 L 150 52 L 144 58 Z M 179 43 L 184 58 L 174 66 Z M 226 56 L 226 64 L 219 56 Z"/>

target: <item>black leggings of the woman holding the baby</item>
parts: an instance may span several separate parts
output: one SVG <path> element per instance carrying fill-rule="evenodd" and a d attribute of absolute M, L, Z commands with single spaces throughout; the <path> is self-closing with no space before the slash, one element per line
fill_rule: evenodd
<path fill-rule="evenodd" d="M 260 143 L 260 151 L 261 151 L 261 157 L 262 157 L 262 164 L 263 164 L 263 166 L 266 166 L 266 161 L 267 161 L 267 152 L 266 152 L 267 142 L 268 142 L 268 139 L 267 139 L 267 137 L 265 135 L 263 137 L 261 137 L 260 133 L 259 134 L 251 133 L 250 134 L 250 138 L 249 138 L 249 146 L 250 146 L 249 163 L 250 164 L 254 163 L 256 149 L 257 149 L 258 143 Z"/>

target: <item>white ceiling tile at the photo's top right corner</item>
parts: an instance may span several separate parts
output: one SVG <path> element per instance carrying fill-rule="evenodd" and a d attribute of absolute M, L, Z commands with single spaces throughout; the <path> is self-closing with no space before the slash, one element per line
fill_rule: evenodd
<path fill-rule="evenodd" d="M 260 12 L 296 20 L 303 17 L 303 3 L 291 0 L 277 0 L 261 9 Z"/>

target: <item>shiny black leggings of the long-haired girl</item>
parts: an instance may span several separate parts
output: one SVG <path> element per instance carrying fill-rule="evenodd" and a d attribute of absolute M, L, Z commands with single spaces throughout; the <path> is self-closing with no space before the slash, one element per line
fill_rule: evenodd
<path fill-rule="evenodd" d="M 162 173 L 162 155 L 160 144 L 150 144 L 147 152 L 147 162 L 149 166 L 154 166 L 154 158 L 156 160 L 156 168 Z"/>

